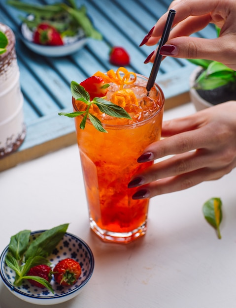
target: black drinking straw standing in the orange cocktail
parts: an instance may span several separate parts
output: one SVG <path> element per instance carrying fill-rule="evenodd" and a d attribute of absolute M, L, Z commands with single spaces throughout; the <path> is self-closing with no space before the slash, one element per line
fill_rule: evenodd
<path fill-rule="evenodd" d="M 160 64 L 161 64 L 161 61 L 162 61 L 162 56 L 160 55 L 160 49 L 168 40 L 169 32 L 170 32 L 170 29 L 171 29 L 171 26 L 172 26 L 172 23 L 173 23 L 173 20 L 174 20 L 175 13 L 176 13 L 175 10 L 172 10 L 172 9 L 169 10 L 167 22 L 166 22 L 166 25 L 165 25 L 165 28 L 164 28 L 164 31 L 163 31 L 163 34 L 162 34 L 162 38 L 160 40 L 160 44 L 159 44 L 159 47 L 158 47 L 158 50 L 157 50 L 156 58 L 153 62 L 151 73 L 150 73 L 150 76 L 149 76 L 149 79 L 148 79 L 148 82 L 147 82 L 146 89 L 147 89 L 148 92 L 150 91 L 150 89 L 153 87 L 153 85 L 155 83 L 157 73 L 158 73 L 158 70 L 159 70 L 159 67 L 160 67 Z"/>

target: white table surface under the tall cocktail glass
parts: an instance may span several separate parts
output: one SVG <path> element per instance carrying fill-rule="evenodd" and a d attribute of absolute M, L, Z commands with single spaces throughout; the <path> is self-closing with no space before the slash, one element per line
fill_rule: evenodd
<path fill-rule="evenodd" d="M 194 112 L 191 103 L 165 112 Z M 0 251 L 23 229 L 69 222 L 95 257 L 86 288 L 58 308 L 235 308 L 236 169 L 222 179 L 150 201 L 146 235 L 129 245 L 107 244 L 89 229 L 77 145 L 0 173 Z M 222 239 L 202 215 L 211 197 L 223 201 Z M 0 281 L 0 308 L 38 307 Z M 44 306 L 48 307 L 48 306 Z M 52 306 L 53 307 L 53 306 Z"/>

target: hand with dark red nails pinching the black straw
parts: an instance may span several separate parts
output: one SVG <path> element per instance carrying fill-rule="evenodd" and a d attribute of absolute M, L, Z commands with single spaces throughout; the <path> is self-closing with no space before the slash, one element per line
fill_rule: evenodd
<path fill-rule="evenodd" d="M 236 0 L 174 0 L 169 8 L 176 10 L 175 27 L 160 50 L 162 56 L 213 60 L 236 70 Z M 140 46 L 158 43 L 167 14 L 158 20 Z M 218 38 L 189 37 L 209 23 L 221 28 Z M 148 61 L 155 59 L 155 53 L 147 58 Z"/>

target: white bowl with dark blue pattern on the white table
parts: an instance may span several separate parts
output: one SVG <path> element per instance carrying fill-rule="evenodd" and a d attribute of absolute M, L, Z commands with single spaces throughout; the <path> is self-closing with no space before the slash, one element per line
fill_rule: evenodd
<path fill-rule="evenodd" d="M 34 240 L 42 232 L 35 231 L 31 233 L 31 240 Z M 48 260 L 56 265 L 59 261 L 71 258 L 79 262 L 82 273 L 77 282 L 72 286 L 62 286 L 51 280 L 51 285 L 54 294 L 47 288 L 40 289 L 32 286 L 28 280 L 23 281 L 22 285 L 15 287 L 13 285 L 15 272 L 5 264 L 5 256 L 8 251 L 8 246 L 3 250 L 0 256 L 0 276 L 5 286 L 18 298 L 38 305 L 54 305 L 66 302 L 80 293 L 82 288 L 91 278 L 94 270 L 94 256 L 90 247 L 80 238 L 66 233 L 64 238 L 54 249 Z"/>

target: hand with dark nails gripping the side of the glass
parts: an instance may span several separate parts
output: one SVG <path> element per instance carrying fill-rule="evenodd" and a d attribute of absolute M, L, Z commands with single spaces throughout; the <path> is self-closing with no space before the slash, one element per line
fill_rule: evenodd
<path fill-rule="evenodd" d="M 135 175 L 133 198 L 147 198 L 217 180 L 236 167 L 236 101 L 163 123 L 166 138 L 148 146 L 138 162 L 156 162 Z"/>

